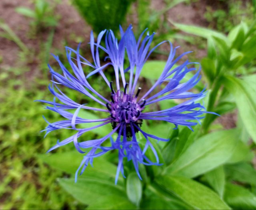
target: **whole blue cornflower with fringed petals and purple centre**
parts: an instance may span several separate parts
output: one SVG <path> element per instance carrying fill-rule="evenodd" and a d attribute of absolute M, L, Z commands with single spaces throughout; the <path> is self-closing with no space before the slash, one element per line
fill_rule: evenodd
<path fill-rule="evenodd" d="M 182 125 L 187 126 L 192 130 L 191 126 L 195 126 L 197 122 L 200 123 L 200 119 L 203 118 L 202 115 L 204 113 L 209 113 L 205 111 L 204 106 L 200 103 L 196 103 L 197 100 L 200 100 L 205 96 L 205 90 L 202 90 L 200 93 L 188 92 L 201 78 L 200 67 L 199 69 L 191 67 L 191 65 L 194 66 L 194 64 L 197 63 L 191 63 L 189 61 L 185 61 L 183 64 L 178 65 L 178 67 L 175 67 L 174 65 L 176 65 L 184 55 L 190 52 L 182 53 L 182 55 L 174 59 L 176 49 L 178 47 L 173 48 L 172 43 L 170 42 L 170 54 L 164 69 L 162 69 L 162 74 L 145 94 L 140 94 L 141 88 L 138 87 L 138 79 L 142 71 L 142 67 L 150 54 L 159 45 L 165 42 L 163 41 L 149 50 L 154 33 L 152 35 L 149 35 L 149 33 L 144 35 L 145 32 L 146 30 L 144 30 L 138 40 L 136 40 L 132 31 L 132 26 L 129 26 L 126 31 L 123 31 L 120 27 L 121 39 L 118 42 L 111 30 L 104 30 L 98 35 L 96 43 L 94 42 L 94 36 L 91 32 L 90 49 L 93 63 L 90 63 L 79 54 L 79 45 L 77 50 L 66 47 L 66 56 L 72 69 L 72 73 L 68 71 L 57 56 L 53 55 L 60 65 L 62 74 L 54 71 L 49 65 L 50 73 L 52 74 L 52 85 L 49 86 L 49 90 L 55 97 L 53 102 L 45 100 L 39 101 L 52 105 L 46 106 L 46 108 L 57 112 L 67 120 L 54 123 L 48 122 L 49 125 L 46 127 L 45 131 L 47 134 L 50 131 L 65 128 L 76 130 L 77 132 L 67 139 L 58 142 L 54 147 L 50 148 L 48 152 L 71 142 L 74 143 L 74 146 L 80 153 L 84 153 L 82 148 L 91 148 L 87 155 L 84 156 L 80 167 L 76 171 L 76 177 L 81 168 L 80 174 L 84 172 L 89 163 L 92 164 L 94 157 L 103 155 L 107 151 L 117 149 L 119 163 L 116 173 L 116 182 L 120 171 L 124 176 L 124 158 L 133 162 L 138 177 L 141 179 L 138 170 L 138 165 L 140 163 L 144 165 L 161 165 L 159 163 L 156 149 L 153 147 L 149 138 L 168 141 L 168 139 L 163 139 L 141 130 L 144 120 L 163 120 L 174 124 L 176 128 L 178 125 Z M 105 46 L 101 44 L 101 40 L 104 35 Z M 100 62 L 99 50 L 102 50 L 107 54 L 104 65 Z M 75 57 L 72 57 L 72 54 L 75 55 Z M 129 67 L 126 69 L 124 69 L 125 55 L 127 55 L 129 61 Z M 106 63 L 106 61 L 109 62 Z M 83 70 L 84 66 L 88 66 L 94 70 L 86 76 Z M 108 81 L 103 72 L 106 67 L 110 66 L 114 69 L 115 82 Z M 186 73 L 190 71 L 196 71 L 196 73 L 187 82 L 182 83 L 181 80 L 184 78 Z M 109 96 L 106 98 L 94 90 L 94 88 L 88 83 L 88 77 L 91 77 L 96 73 L 99 73 L 102 76 L 106 82 L 106 87 L 109 88 Z M 127 77 L 125 77 L 126 74 L 129 76 L 128 80 Z M 114 85 L 116 88 L 114 88 Z M 102 108 L 93 108 L 85 106 L 86 104 L 78 104 L 66 96 L 66 94 L 60 90 L 59 86 L 66 86 L 84 94 L 88 98 L 91 98 L 95 102 L 101 104 Z M 162 88 L 162 90 L 156 92 L 159 87 L 163 86 L 164 88 Z M 62 103 L 57 103 L 55 98 Z M 146 112 L 144 110 L 144 108 L 150 104 L 170 99 L 188 100 L 165 110 L 155 112 Z M 98 120 L 80 118 L 78 117 L 80 109 L 104 112 L 107 117 Z M 68 110 L 75 111 L 74 113 L 71 113 L 68 112 Z M 195 120 L 197 122 L 195 122 Z M 90 124 L 94 122 L 100 122 L 100 124 L 90 128 L 76 128 L 76 125 L 78 124 Z M 112 124 L 113 128 L 108 135 L 100 139 L 86 139 L 87 141 L 78 142 L 78 138 L 82 134 L 106 124 Z M 115 140 L 111 137 L 114 133 L 118 134 Z M 141 133 L 144 137 L 144 148 L 141 148 L 138 144 L 136 133 Z M 110 147 L 102 145 L 106 139 L 110 139 Z M 145 155 L 149 148 L 155 155 L 156 163 L 152 162 Z"/>

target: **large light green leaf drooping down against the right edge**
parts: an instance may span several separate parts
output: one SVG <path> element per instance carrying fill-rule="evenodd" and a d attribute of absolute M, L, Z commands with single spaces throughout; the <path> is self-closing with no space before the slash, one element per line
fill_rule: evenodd
<path fill-rule="evenodd" d="M 256 91 L 252 88 L 252 85 L 255 86 L 256 84 L 256 75 L 252 78 L 255 78 L 254 82 L 228 76 L 224 79 L 224 84 L 228 91 L 233 94 L 246 130 L 256 142 Z"/>

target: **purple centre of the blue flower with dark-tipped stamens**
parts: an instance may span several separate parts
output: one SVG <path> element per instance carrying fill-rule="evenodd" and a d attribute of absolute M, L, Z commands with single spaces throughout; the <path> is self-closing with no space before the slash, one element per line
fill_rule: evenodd
<path fill-rule="evenodd" d="M 131 128 L 130 123 L 136 124 L 138 127 L 141 127 L 142 120 L 140 120 L 140 113 L 144 109 L 146 104 L 146 100 L 138 103 L 137 98 L 140 93 L 141 88 L 138 88 L 138 92 L 136 95 L 127 94 L 126 88 L 128 83 L 126 83 L 124 87 L 124 91 L 118 90 L 114 91 L 112 88 L 112 82 L 110 82 L 111 88 L 111 102 L 107 103 L 106 106 L 110 112 L 110 116 L 113 118 L 114 122 L 112 122 L 112 127 L 116 128 L 116 126 L 120 123 L 126 124 L 126 135 L 131 136 Z M 119 130 L 117 130 L 118 132 Z M 134 132 L 137 132 L 138 129 L 135 128 Z"/>

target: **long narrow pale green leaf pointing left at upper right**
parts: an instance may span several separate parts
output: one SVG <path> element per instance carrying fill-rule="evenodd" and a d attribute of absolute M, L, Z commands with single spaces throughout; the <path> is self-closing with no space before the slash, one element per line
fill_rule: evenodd
<path fill-rule="evenodd" d="M 208 37 L 215 36 L 220 39 L 223 39 L 224 41 L 227 41 L 226 35 L 218 32 L 218 31 L 214 31 L 214 30 L 204 28 L 204 27 L 199 27 L 199 26 L 189 26 L 189 25 L 177 24 L 177 23 L 172 23 L 172 24 L 174 24 L 175 27 L 177 27 L 178 29 L 180 29 L 186 33 L 191 33 L 193 35 L 204 37 L 206 39 Z"/>

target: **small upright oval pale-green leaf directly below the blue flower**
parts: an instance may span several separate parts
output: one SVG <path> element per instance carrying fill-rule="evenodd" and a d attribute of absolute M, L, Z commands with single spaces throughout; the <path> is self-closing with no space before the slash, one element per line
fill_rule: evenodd
<path fill-rule="evenodd" d="M 126 193 L 130 201 L 139 206 L 142 198 L 142 184 L 136 172 L 132 172 L 127 177 Z"/>

